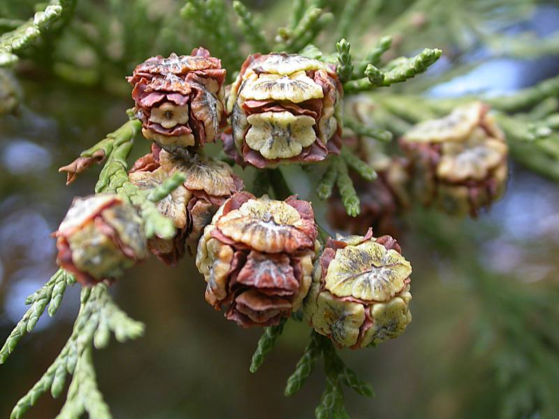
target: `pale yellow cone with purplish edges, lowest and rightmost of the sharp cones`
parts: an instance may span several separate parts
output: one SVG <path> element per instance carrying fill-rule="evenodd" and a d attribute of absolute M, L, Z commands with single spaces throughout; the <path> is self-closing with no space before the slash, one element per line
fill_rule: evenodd
<path fill-rule="evenodd" d="M 398 337 L 412 321 L 412 266 L 390 236 L 328 240 L 315 263 L 303 312 L 337 346 L 362 348 Z"/>

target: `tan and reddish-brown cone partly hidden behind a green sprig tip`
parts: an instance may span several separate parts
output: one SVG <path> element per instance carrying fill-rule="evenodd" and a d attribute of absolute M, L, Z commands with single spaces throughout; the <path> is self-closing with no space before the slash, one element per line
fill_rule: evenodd
<path fill-rule="evenodd" d="M 242 180 L 222 161 L 200 154 L 170 154 L 158 147 L 136 161 L 129 179 L 140 189 L 154 189 L 175 171 L 184 173 L 186 180 L 160 200 L 157 209 L 173 221 L 177 233 L 171 240 L 155 237 L 149 241 L 150 250 L 169 265 L 177 264 L 185 247 L 191 253 L 196 251 L 198 239 L 217 208 L 244 187 Z"/>

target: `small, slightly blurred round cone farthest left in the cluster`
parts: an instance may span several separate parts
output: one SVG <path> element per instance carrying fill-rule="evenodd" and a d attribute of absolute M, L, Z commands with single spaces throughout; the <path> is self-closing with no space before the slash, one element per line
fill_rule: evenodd
<path fill-rule="evenodd" d="M 75 198 L 57 237 L 57 263 L 81 284 L 119 277 L 147 257 L 143 220 L 112 193 Z"/>

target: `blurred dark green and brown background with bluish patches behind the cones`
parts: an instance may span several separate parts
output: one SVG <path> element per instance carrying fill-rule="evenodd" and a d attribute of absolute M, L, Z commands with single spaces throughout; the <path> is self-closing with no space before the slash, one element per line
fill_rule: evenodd
<path fill-rule="evenodd" d="M 283 0 L 245 3 L 270 33 L 291 8 Z M 326 3 L 341 13 L 344 2 Z M 124 76 L 138 62 L 187 54 L 200 42 L 212 47 L 180 17 L 183 5 L 80 1 L 64 33 L 22 59 L 18 81 L 3 81 L 22 103 L 0 117 L 1 340 L 24 314 L 25 297 L 56 270 L 50 233 L 73 196 L 92 192 L 99 174 L 92 168 L 65 187 L 57 168 L 122 124 L 133 104 Z M 34 2 L 3 0 L 0 27 L 33 12 Z M 395 91 L 431 98 L 502 94 L 559 73 L 556 2 L 368 1 L 349 40 L 366 50 L 382 34 L 399 40 L 399 54 L 421 47 L 444 53 L 426 75 Z M 319 45 L 331 52 L 335 44 L 326 35 Z M 235 68 L 237 61 L 224 64 Z M 148 148 L 138 143 L 133 157 Z M 314 206 L 327 210 L 319 201 Z M 352 418 L 559 416 L 558 209 L 557 182 L 513 162 L 506 195 L 478 219 L 420 207 L 402 218 L 397 238 L 414 268 L 414 320 L 378 348 L 341 351 L 377 393 L 364 399 L 348 391 Z M 147 326 L 143 338 L 94 354 L 113 416 L 312 418 L 324 390 L 320 365 L 296 396 L 283 396 L 310 332 L 306 325 L 289 322 L 263 367 L 250 374 L 261 330 L 226 321 L 204 301 L 204 289 L 193 258 L 175 269 L 152 258 L 112 287 L 120 307 Z M 59 353 L 78 306 L 73 286 L 57 316 L 43 316 L 0 366 L 1 418 Z M 45 395 L 27 417 L 54 418 L 61 404 Z"/>

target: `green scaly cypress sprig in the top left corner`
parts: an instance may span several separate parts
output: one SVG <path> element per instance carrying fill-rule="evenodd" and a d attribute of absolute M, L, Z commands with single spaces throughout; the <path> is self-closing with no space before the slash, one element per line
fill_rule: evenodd
<path fill-rule="evenodd" d="M 33 45 L 42 34 L 73 10 L 77 0 L 52 0 L 45 10 L 35 13 L 13 31 L 0 36 L 0 67 L 14 64 L 19 59 L 17 53 Z"/>

